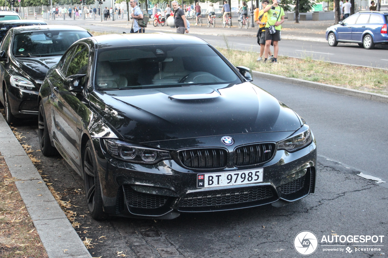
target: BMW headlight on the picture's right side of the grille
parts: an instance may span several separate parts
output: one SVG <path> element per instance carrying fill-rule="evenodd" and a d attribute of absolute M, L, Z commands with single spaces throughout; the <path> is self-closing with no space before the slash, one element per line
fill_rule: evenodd
<path fill-rule="evenodd" d="M 304 124 L 298 131 L 296 131 L 289 138 L 281 141 L 277 147 L 278 150 L 286 150 L 288 152 L 294 152 L 305 148 L 312 142 L 310 127 Z"/>

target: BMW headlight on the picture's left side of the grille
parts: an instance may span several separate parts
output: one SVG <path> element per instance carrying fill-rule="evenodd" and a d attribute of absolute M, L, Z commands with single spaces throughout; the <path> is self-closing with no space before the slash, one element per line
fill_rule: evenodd
<path fill-rule="evenodd" d="M 170 152 L 136 146 L 118 139 L 104 139 L 110 155 L 119 160 L 133 163 L 156 164 L 161 160 L 169 160 Z"/>

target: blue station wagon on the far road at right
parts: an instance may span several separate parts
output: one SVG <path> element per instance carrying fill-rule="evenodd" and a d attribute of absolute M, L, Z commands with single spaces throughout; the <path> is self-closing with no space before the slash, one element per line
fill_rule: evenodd
<path fill-rule="evenodd" d="M 338 42 L 358 43 L 366 49 L 375 44 L 388 44 L 388 12 L 362 11 L 350 15 L 338 24 L 326 29 L 329 46 Z"/>

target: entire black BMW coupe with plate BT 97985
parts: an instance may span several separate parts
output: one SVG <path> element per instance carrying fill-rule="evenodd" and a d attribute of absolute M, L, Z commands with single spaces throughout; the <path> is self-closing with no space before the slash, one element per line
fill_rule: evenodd
<path fill-rule="evenodd" d="M 195 36 L 85 38 L 40 88 L 42 153 L 83 177 L 95 219 L 292 203 L 315 190 L 314 135 L 252 79 Z"/>

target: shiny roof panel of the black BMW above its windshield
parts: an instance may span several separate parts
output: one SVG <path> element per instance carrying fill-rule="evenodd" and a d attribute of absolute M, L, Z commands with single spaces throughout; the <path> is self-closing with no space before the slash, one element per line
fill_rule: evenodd
<path fill-rule="evenodd" d="M 196 36 L 161 32 L 109 34 L 92 38 L 97 41 L 98 48 L 154 44 L 208 44 Z"/>

